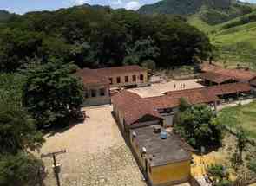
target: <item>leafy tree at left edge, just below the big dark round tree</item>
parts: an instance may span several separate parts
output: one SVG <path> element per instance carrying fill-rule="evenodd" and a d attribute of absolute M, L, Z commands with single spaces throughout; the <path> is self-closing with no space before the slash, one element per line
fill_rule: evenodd
<path fill-rule="evenodd" d="M 0 154 L 38 150 L 43 142 L 43 135 L 36 131 L 35 120 L 28 112 L 0 102 Z"/>

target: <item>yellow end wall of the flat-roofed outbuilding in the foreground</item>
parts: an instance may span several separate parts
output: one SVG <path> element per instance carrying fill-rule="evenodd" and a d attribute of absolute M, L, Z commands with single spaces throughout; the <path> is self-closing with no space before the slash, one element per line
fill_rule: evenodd
<path fill-rule="evenodd" d="M 149 183 L 154 186 L 165 186 L 188 182 L 190 169 L 190 160 L 151 167 L 148 169 Z"/>

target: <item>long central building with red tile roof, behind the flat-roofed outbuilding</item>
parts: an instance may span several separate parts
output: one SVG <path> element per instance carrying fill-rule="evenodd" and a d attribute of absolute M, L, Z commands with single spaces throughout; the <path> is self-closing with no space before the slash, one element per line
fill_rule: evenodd
<path fill-rule="evenodd" d="M 122 91 L 112 97 L 115 118 L 124 131 L 153 124 L 172 125 L 174 112 L 181 104 L 181 98 L 191 105 L 210 104 L 217 106 L 225 96 L 251 93 L 249 83 L 229 83 L 212 87 L 200 87 L 164 93 L 165 95 L 141 98 L 135 93 Z"/>

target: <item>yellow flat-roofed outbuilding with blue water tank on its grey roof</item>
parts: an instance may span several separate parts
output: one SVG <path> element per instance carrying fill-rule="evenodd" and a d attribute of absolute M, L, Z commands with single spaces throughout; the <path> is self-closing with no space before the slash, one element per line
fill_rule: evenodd
<path fill-rule="evenodd" d="M 154 125 L 136 128 L 130 131 L 130 143 L 150 185 L 189 182 L 193 149 L 174 132 Z"/>

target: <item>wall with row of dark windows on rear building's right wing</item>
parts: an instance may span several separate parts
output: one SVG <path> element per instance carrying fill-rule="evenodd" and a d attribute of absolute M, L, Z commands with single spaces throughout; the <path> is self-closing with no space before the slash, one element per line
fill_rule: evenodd
<path fill-rule="evenodd" d="M 108 79 L 110 81 L 110 87 L 148 86 L 148 72 L 146 70 L 140 73 L 135 72 L 109 76 Z"/>

